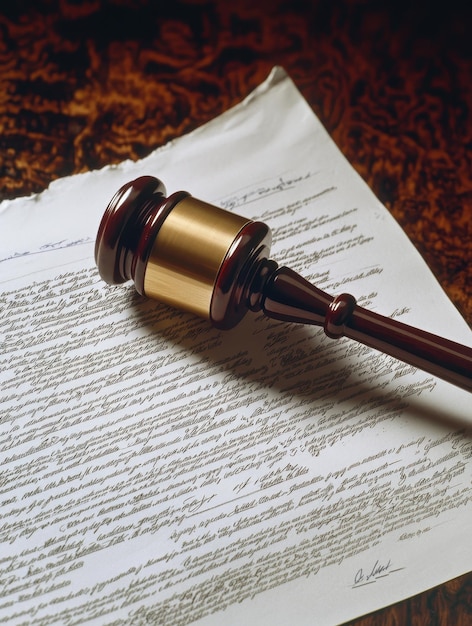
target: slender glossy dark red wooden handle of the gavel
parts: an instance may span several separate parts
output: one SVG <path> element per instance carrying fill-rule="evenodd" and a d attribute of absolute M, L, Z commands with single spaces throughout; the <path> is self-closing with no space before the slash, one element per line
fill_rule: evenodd
<path fill-rule="evenodd" d="M 323 326 L 328 337 L 349 337 L 472 391 L 472 348 L 364 309 L 351 295 L 334 298 L 287 267 L 270 276 L 262 293 L 271 318 Z"/>

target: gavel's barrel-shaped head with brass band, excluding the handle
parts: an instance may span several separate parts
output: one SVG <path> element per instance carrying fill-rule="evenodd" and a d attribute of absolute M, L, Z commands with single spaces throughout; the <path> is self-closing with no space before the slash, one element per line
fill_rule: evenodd
<path fill-rule="evenodd" d="M 97 235 L 95 260 L 110 284 L 134 281 L 137 291 L 235 326 L 260 309 L 270 229 L 180 191 L 166 197 L 161 181 L 143 176 L 121 187 Z"/>

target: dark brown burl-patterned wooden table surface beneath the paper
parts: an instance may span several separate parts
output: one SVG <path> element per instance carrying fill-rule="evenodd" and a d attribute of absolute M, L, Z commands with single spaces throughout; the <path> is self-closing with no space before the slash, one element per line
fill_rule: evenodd
<path fill-rule="evenodd" d="M 472 325 L 472 11 L 462 2 L 3 4 L 0 199 L 141 158 L 281 65 Z M 470 626 L 472 574 L 350 624 Z"/>

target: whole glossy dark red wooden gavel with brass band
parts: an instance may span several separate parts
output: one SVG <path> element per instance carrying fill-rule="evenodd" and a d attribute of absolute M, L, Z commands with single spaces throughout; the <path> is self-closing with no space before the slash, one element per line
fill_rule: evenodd
<path fill-rule="evenodd" d="M 322 326 L 472 391 L 472 348 L 328 295 L 269 258 L 272 234 L 253 221 L 141 176 L 114 195 L 95 261 L 109 284 L 132 280 L 143 296 L 230 329 L 248 311 Z"/>

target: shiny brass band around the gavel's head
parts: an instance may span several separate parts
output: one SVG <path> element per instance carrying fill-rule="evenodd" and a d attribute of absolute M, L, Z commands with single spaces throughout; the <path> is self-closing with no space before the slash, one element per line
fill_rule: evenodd
<path fill-rule="evenodd" d="M 166 217 L 144 276 L 147 296 L 209 318 L 218 271 L 251 220 L 189 196 Z"/>

